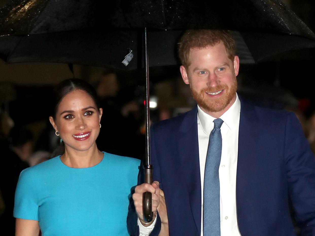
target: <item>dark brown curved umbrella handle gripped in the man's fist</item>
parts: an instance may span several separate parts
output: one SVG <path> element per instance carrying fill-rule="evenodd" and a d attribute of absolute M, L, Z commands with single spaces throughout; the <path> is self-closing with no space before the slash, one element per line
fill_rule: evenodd
<path fill-rule="evenodd" d="M 153 182 L 153 166 L 148 165 L 144 169 L 144 181 L 145 183 L 151 184 Z M 151 222 L 153 219 L 152 212 L 152 193 L 144 192 L 142 194 L 142 211 L 143 211 L 143 220 L 145 222 Z"/>

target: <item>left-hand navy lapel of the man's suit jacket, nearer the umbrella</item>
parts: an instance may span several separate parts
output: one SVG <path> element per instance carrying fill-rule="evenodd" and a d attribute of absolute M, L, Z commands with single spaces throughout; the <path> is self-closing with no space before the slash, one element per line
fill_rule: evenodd
<path fill-rule="evenodd" d="M 184 117 L 176 146 L 182 173 L 187 185 L 190 207 L 194 217 L 198 233 L 201 227 L 201 181 L 198 148 L 197 106 Z"/>

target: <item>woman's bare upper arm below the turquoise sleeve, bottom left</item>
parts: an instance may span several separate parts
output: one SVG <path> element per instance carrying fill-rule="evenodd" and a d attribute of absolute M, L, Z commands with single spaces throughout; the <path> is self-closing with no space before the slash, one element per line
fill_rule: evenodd
<path fill-rule="evenodd" d="M 38 221 L 16 218 L 15 236 L 38 236 L 38 235 L 39 235 Z"/>

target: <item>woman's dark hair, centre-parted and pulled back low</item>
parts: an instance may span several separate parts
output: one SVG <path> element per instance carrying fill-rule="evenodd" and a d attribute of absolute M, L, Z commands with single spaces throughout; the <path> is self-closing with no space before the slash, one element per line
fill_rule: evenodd
<path fill-rule="evenodd" d="M 61 81 L 55 88 L 54 88 L 54 111 L 52 117 L 55 119 L 58 106 L 62 100 L 68 93 L 74 90 L 82 90 L 89 94 L 89 96 L 93 99 L 97 110 L 100 110 L 100 103 L 97 98 L 96 91 L 92 85 L 88 82 L 81 80 L 81 79 L 66 79 Z M 62 155 L 65 153 L 65 144 L 60 142 L 60 145 L 53 151 L 51 157 L 55 157 L 58 155 Z"/>

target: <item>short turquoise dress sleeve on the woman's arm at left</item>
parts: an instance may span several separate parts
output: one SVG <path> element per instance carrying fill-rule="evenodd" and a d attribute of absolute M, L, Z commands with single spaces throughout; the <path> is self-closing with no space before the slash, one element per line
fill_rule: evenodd
<path fill-rule="evenodd" d="M 15 191 L 14 212 L 15 218 L 38 221 L 38 200 L 35 185 L 36 177 L 30 168 L 20 173 Z"/>

